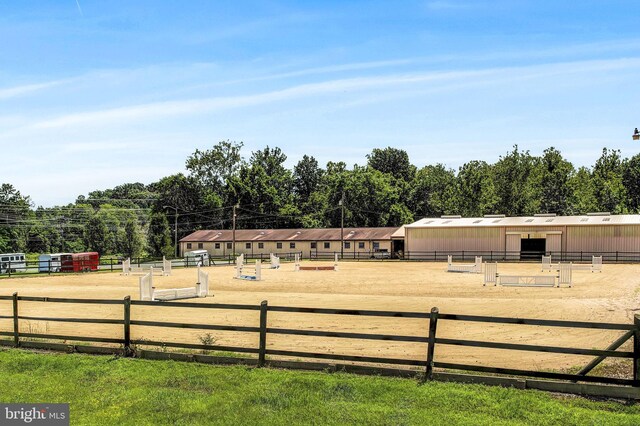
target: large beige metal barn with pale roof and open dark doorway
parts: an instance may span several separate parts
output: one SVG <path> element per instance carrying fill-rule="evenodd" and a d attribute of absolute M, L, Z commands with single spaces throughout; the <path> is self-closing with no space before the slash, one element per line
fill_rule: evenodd
<path fill-rule="evenodd" d="M 506 260 L 546 253 L 566 260 L 603 255 L 606 260 L 637 261 L 640 253 L 640 215 L 443 216 L 406 225 L 404 234 L 405 257 L 411 259 L 466 251 Z"/>

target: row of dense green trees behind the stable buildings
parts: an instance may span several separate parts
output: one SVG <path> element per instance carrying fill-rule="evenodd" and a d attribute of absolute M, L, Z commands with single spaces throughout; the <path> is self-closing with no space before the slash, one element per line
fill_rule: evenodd
<path fill-rule="evenodd" d="M 493 163 L 418 168 L 406 151 L 373 149 L 366 165 L 303 156 L 289 169 L 278 147 L 242 156 L 242 142 L 196 150 L 187 173 L 149 185 L 125 183 L 37 207 L 13 185 L 0 185 L 0 252 L 98 251 L 102 255 L 171 256 L 198 229 L 400 226 L 458 214 L 526 216 L 640 211 L 640 154 L 604 148 L 592 167 L 574 167 L 551 147 L 534 156 L 514 146 Z M 235 206 L 235 207 L 234 207 Z"/>

